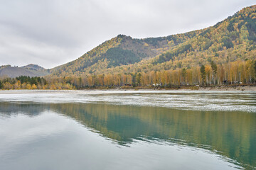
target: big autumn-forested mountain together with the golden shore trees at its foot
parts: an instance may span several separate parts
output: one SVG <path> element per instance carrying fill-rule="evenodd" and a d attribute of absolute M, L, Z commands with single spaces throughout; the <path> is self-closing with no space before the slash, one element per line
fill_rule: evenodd
<path fill-rule="evenodd" d="M 73 85 L 250 84 L 256 78 L 256 6 L 215 26 L 161 38 L 118 35 L 51 70 Z M 79 80 L 77 80 L 79 79 Z"/>

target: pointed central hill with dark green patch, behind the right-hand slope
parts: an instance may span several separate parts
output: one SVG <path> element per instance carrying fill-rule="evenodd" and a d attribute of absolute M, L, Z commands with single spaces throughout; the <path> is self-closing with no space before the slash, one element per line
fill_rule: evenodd
<path fill-rule="evenodd" d="M 181 35 L 163 38 L 134 39 L 127 35 L 118 35 L 107 40 L 73 62 L 63 64 L 51 70 L 54 75 L 98 74 L 102 70 L 149 60 L 172 47 L 199 35 L 196 30 Z"/>

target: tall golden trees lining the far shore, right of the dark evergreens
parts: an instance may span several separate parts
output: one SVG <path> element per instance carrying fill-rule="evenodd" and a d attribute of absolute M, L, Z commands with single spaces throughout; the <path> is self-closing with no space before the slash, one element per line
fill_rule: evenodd
<path fill-rule="evenodd" d="M 201 65 L 193 68 L 124 74 L 87 74 L 82 77 L 55 77 L 48 81 L 71 84 L 76 89 L 99 86 L 219 86 L 227 84 L 255 84 L 256 61 L 237 60 L 225 64 Z"/>

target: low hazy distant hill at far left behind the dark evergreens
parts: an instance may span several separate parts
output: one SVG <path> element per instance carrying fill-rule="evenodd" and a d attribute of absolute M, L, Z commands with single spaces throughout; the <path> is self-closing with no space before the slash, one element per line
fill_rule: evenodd
<path fill-rule="evenodd" d="M 11 65 L 5 65 L 0 67 L 0 77 L 43 77 L 50 74 L 47 69 L 40 67 L 36 64 L 28 64 L 23 67 L 11 67 Z"/>

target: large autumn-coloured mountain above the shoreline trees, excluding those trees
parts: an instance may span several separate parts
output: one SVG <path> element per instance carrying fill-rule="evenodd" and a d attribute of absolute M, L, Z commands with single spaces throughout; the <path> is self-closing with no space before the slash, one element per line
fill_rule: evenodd
<path fill-rule="evenodd" d="M 215 26 L 189 33 L 144 39 L 118 35 L 77 60 L 51 69 L 51 76 L 160 72 L 255 60 L 255 10 L 256 6 L 243 8 Z"/>

